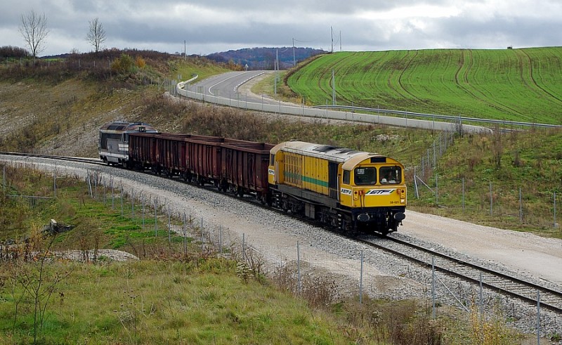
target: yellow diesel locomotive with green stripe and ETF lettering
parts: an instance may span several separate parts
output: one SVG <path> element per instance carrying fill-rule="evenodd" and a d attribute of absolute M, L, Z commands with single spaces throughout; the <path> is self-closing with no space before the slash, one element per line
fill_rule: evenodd
<path fill-rule="evenodd" d="M 270 150 L 270 202 L 341 230 L 386 235 L 405 218 L 404 167 L 390 157 L 287 141 Z"/>

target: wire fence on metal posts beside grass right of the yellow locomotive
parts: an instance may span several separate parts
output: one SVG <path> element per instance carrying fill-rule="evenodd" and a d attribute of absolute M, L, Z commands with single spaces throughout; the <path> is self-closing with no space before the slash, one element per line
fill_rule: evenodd
<path fill-rule="evenodd" d="M 559 228 L 558 197 L 555 190 L 540 190 L 526 183 L 513 188 L 512 183 L 494 183 L 486 178 L 458 178 L 440 183 L 440 157 L 455 144 L 457 134 L 441 132 L 421 156 L 420 164 L 408 169 L 412 181 L 410 197 L 433 204 L 450 214 L 478 214 L 491 223 L 521 224 L 536 228 Z"/>

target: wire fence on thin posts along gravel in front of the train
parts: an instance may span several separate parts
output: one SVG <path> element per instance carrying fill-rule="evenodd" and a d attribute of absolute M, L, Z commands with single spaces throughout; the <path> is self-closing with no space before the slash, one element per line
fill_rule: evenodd
<path fill-rule="evenodd" d="M 31 163 L 15 163 L 15 166 L 19 169 L 39 169 Z M 63 172 L 55 167 L 53 175 L 61 177 Z M 457 306 L 469 313 L 477 310 L 482 315 L 492 315 L 498 305 L 502 308 L 513 306 L 507 297 L 498 297 L 492 291 L 453 280 L 434 270 L 396 261 L 393 256 L 369 247 L 346 247 L 342 254 L 340 247 L 319 248 L 313 242 L 272 240 L 275 235 L 267 229 L 263 229 L 259 236 L 251 236 L 212 219 L 197 218 L 181 205 L 171 204 L 165 198 L 129 188 L 121 178 L 111 174 L 93 170 L 86 171 L 82 177 L 91 199 L 120 212 L 121 216 L 131 219 L 143 230 L 153 230 L 154 237 L 167 237 L 170 243 L 177 242 L 178 237 L 183 238 L 181 243 L 186 252 L 189 242 L 190 250 L 200 252 L 201 256 L 234 259 L 238 262 L 237 274 L 240 277 L 265 277 L 296 295 L 306 295 L 308 299 L 331 303 L 355 297 L 362 303 L 364 297 L 417 299 L 424 296 L 431 303 L 433 317 L 442 305 Z M 57 183 L 56 178 L 53 179 L 54 199 Z M 3 185 L 6 185 L 5 173 Z M 10 259 L 10 255 L 8 246 L 0 246 L 0 259 Z M 84 254 L 81 257 L 97 256 Z M 381 262 L 392 262 L 392 265 L 382 265 L 384 268 L 381 268 Z M 538 294 L 535 318 L 529 315 L 527 309 L 517 308 L 509 315 L 517 320 L 526 319 L 530 325 L 536 323 L 535 331 L 539 335 L 546 332 L 544 323 L 547 319 L 540 310 Z"/>

